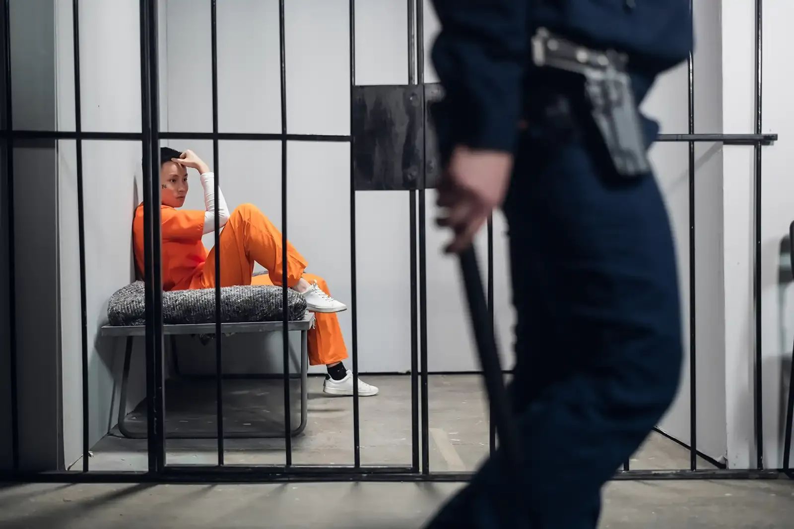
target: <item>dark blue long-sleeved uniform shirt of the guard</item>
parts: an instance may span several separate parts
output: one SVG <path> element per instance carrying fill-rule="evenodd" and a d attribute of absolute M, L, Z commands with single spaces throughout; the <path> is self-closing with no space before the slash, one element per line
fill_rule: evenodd
<path fill-rule="evenodd" d="M 592 48 L 626 52 L 638 82 L 648 79 L 642 94 L 655 75 L 692 48 L 689 0 L 434 0 L 434 5 L 442 30 L 433 61 L 446 92 L 434 109 L 442 152 L 456 144 L 513 150 L 523 91 L 533 82 L 530 39 L 538 27 Z"/>

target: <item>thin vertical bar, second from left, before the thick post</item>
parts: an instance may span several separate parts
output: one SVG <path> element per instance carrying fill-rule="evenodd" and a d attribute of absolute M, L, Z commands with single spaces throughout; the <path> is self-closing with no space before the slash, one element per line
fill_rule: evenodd
<path fill-rule="evenodd" d="M 77 234 L 78 253 L 80 263 L 80 337 L 82 345 L 82 385 L 83 385 L 83 472 L 88 472 L 89 450 L 91 439 L 89 437 L 89 408 L 88 408 L 88 313 L 86 301 L 86 228 L 84 215 L 83 194 L 83 140 L 79 134 L 83 132 L 83 107 L 80 98 L 80 11 L 79 0 L 71 2 L 72 23 L 72 52 L 75 59 L 75 139 L 77 155 Z"/>

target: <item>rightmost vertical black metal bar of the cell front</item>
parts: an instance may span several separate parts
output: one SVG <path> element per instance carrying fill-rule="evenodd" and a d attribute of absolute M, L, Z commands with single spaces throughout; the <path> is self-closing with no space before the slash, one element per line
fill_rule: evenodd
<path fill-rule="evenodd" d="M 763 63 L 763 2 L 755 0 L 755 133 L 761 134 L 761 72 Z M 755 187 L 755 445 L 756 466 L 764 468 L 764 378 L 761 357 L 761 143 L 754 145 Z"/>

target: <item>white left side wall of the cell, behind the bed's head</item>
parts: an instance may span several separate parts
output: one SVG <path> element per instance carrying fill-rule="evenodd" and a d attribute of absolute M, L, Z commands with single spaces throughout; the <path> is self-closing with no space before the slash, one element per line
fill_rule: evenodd
<path fill-rule="evenodd" d="M 79 3 L 80 85 L 83 130 L 141 131 L 138 2 L 83 0 Z M 74 130 L 74 71 L 71 2 L 57 0 L 58 126 Z M 133 279 L 131 226 L 139 201 L 141 143 L 83 141 L 83 194 L 89 355 L 91 442 L 115 424 L 124 345 L 98 336 L 106 323 L 107 301 Z M 82 453 L 82 380 L 79 312 L 76 145 L 59 142 L 61 341 L 64 385 L 64 460 Z M 143 351 L 133 358 L 141 372 Z M 142 377 L 133 377 L 129 403 L 143 397 Z"/>

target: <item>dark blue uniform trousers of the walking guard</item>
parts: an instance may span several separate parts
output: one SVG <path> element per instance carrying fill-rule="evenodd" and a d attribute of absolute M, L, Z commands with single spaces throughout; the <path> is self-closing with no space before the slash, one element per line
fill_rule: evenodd
<path fill-rule="evenodd" d="M 521 510 L 522 527 L 595 527 L 601 486 L 678 386 L 676 262 L 653 175 L 622 179 L 583 133 L 549 142 L 559 131 L 532 123 L 505 206 L 520 481 L 505 474 L 497 451 L 434 528 L 504 527 L 506 508 Z"/>

